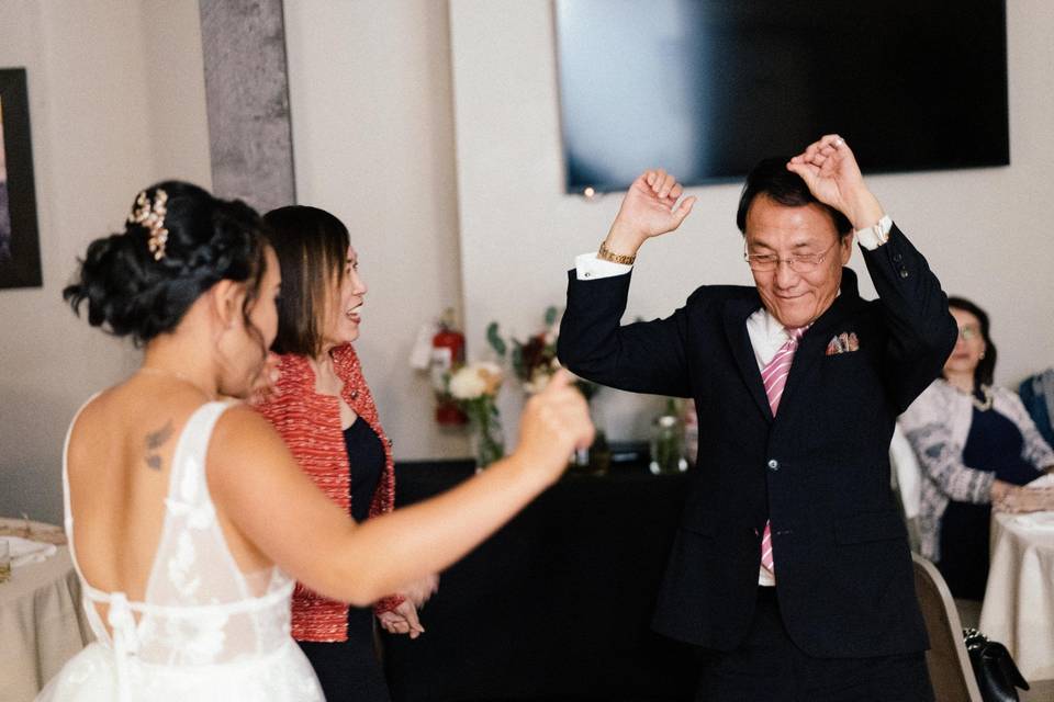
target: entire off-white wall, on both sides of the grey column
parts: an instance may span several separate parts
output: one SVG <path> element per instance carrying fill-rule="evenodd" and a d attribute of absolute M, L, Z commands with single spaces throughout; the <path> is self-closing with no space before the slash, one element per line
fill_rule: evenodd
<path fill-rule="evenodd" d="M 1003 383 L 1054 363 L 1054 8 L 1008 13 L 1012 165 L 871 181 L 945 287 L 993 314 Z M 417 326 L 463 305 L 475 355 L 492 319 L 534 331 L 618 206 L 561 194 L 551 4 L 287 0 L 285 19 L 299 196 L 340 216 L 362 256 L 358 347 L 396 455 L 466 455 L 407 367 Z M 44 260 L 43 288 L 0 291 L 0 514 L 58 520 L 66 426 L 137 359 L 60 291 L 137 189 L 209 185 L 200 43 L 193 0 L 0 0 L 0 66 L 29 69 Z M 699 282 L 749 283 L 738 190 L 693 191 L 683 231 L 643 250 L 630 316 L 664 315 Z M 610 432 L 642 434 L 654 405 L 605 393 Z M 517 393 L 504 406 L 513 424 Z"/>

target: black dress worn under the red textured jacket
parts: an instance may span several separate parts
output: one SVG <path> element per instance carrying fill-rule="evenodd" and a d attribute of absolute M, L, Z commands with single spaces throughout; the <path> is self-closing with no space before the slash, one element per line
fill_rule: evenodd
<path fill-rule="evenodd" d="M 344 430 L 351 466 L 351 517 L 362 522 L 384 471 L 384 446 L 361 418 Z M 348 608 L 348 639 L 334 643 L 298 642 L 307 656 L 327 702 L 389 702 L 388 683 L 373 649 L 373 610 Z"/>

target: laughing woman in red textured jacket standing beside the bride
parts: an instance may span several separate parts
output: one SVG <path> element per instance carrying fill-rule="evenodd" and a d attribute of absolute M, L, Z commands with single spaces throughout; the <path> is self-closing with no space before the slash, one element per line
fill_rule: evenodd
<path fill-rule="evenodd" d="M 359 337 L 366 283 L 348 230 L 332 214 L 290 206 L 264 216 L 282 271 L 277 377 L 257 409 L 300 467 L 357 522 L 390 512 L 395 499 L 392 449 L 351 347 Z M 391 633 L 416 637 L 416 614 L 435 578 L 373 608 Z M 389 699 L 373 650 L 373 611 L 293 591 L 293 638 L 311 660 L 326 700 Z"/>

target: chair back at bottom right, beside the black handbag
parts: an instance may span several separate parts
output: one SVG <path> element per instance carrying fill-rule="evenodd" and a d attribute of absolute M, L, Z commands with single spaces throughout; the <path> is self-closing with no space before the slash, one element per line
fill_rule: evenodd
<path fill-rule="evenodd" d="M 937 702 L 983 702 L 969 656 L 963 644 L 963 625 L 955 601 L 937 567 L 918 554 L 915 562 L 915 590 L 930 636 L 926 664 Z"/>

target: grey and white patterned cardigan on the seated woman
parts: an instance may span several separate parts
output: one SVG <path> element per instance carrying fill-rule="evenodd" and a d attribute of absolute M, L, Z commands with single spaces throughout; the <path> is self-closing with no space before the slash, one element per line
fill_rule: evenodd
<path fill-rule="evenodd" d="M 1036 468 L 1036 477 L 1054 465 L 1054 451 L 1039 430 L 1018 396 L 1003 387 L 993 387 L 994 411 L 1008 418 L 1021 432 L 1021 458 Z M 930 385 L 899 419 L 900 428 L 922 467 L 919 503 L 919 539 L 922 555 L 938 562 L 941 517 L 950 500 L 982 505 L 991 499 L 994 466 L 968 466 L 963 449 L 973 422 L 971 397 L 946 381 Z"/>

